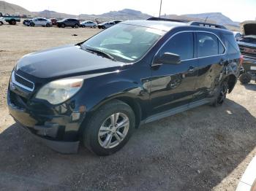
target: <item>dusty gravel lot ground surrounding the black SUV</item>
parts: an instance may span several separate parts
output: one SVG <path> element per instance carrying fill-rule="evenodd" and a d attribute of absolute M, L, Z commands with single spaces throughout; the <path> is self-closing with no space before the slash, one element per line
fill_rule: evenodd
<path fill-rule="evenodd" d="M 109 157 L 83 147 L 61 155 L 18 128 L 6 106 L 18 59 L 98 31 L 0 26 L 0 190 L 235 190 L 256 154 L 255 83 L 236 85 L 222 107 L 200 106 L 143 125 Z"/>

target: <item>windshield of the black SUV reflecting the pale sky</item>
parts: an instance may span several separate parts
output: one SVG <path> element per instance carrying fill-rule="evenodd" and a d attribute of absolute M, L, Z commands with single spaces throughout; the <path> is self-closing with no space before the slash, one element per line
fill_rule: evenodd
<path fill-rule="evenodd" d="M 83 50 L 94 49 L 112 55 L 116 61 L 138 61 L 165 34 L 154 28 L 118 24 L 84 42 Z"/>

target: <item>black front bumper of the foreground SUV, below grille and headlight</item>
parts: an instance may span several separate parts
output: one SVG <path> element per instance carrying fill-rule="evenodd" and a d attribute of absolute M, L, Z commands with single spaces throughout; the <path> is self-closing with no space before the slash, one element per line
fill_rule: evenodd
<path fill-rule="evenodd" d="M 20 87 L 15 88 L 18 90 Z M 23 97 L 15 93 L 15 90 L 9 88 L 7 104 L 10 115 L 19 126 L 29 130 L 37 139 L 57 152 L 78 152 L 79 128 L 85 114 L 79 113 L 80 117 L 74 118 L 74 114 L 78 114 L 75 110 L 58 114 L 56 108 L 34 109 L 31 105 L 26 106 Z"/>

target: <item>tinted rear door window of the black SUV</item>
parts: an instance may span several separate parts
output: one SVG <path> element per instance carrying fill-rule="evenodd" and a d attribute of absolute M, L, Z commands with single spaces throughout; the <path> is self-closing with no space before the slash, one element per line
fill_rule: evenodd
<path fill-rule="evenodd" d="M 218 38 L 214 34 L 197 33 L 197 57 L 219 54 Z"/>

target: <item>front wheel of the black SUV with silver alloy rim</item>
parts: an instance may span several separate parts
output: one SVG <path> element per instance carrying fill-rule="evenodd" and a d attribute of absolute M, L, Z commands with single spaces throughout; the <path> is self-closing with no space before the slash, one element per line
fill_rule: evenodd
<path fill-rule="evenodd" d="M 118 117 L 117 120 L 114 120 L 115 117 Z M 125 122 L 126 125 L 115 128 L 111 122 L 116 125 Z M 124 147 L 134 130 L 135 114 L 131 107 L 122 101 L 113 100 L 99 107 L 86 122 L 83 144 L 96 155 L 111 155 Z"/>

